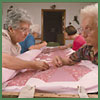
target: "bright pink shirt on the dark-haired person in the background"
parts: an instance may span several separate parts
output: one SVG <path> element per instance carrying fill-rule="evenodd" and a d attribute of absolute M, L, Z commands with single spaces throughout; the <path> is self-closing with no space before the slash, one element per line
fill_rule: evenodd
<path fill-rule="evenodd" d="M 79 35 L 73 41 L 73 47 L 72 47 L 72 49 L 75 50 L 75 51 L 77 51 L 84 44 L 86 44 L 85 39 L 81 35 Z"/>

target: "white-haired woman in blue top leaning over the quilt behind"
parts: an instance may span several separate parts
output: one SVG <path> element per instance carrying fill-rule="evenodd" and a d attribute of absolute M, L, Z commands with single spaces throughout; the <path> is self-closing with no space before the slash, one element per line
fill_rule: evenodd
<path fill-rule="evenodd" d="M 47 45 L 45 41 L 40 44 L 35 44 L 35 38 L 40 31 L 40 27 L 38 25 L 31 25 L 30 30 L 31 32 L 28 34 L 26 39 L 19 43 L 21 45 L 21 53 L 32 49 L 40 49 Z"/>

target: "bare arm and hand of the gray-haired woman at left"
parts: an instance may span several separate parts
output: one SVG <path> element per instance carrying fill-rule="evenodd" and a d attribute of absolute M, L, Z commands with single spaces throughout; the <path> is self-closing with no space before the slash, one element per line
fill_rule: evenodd
<path fill-rule="evenodd" d="M 45 62 L 25 61 L 6 53 L 2 53 L 2 67 L 13 70 L 20 70 L 20 69 L 46 70 L 49 68 L 48 64 L 46 64 Z"/>

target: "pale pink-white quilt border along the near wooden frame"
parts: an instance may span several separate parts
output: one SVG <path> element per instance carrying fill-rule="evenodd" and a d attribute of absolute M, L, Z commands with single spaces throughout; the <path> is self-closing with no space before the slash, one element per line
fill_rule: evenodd
<path fill-rule="evenodd" d="M 85 63 L 86 64 L 86 63 Z M 93 64 L 88 65 L 94 67 Z M 95 69 L 96 68 L 96 69 Z M 83 86 L 86 93 L 96 93 L 98 91 L 98 67 L 84 75 L 79 81 L 45 82 L 38 78 L 30 78 L 25 85 L 36 86 L 36 90 L 58 94 L 78 94 L 78 86 Z M 92 76 L 92 77 L 91 77 Z M 8 86 L 3 91 L 19 92 L 24 86 Z"/>

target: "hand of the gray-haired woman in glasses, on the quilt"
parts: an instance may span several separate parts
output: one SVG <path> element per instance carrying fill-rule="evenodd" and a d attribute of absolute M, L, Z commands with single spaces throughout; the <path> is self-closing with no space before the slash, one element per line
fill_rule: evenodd
<path fill-rule="evenodd" d="M 47 70 L 49 69 L 49 65 L 46 62 L 43 61 L 35 61 L 35 68 L 36 70 Z"/>

